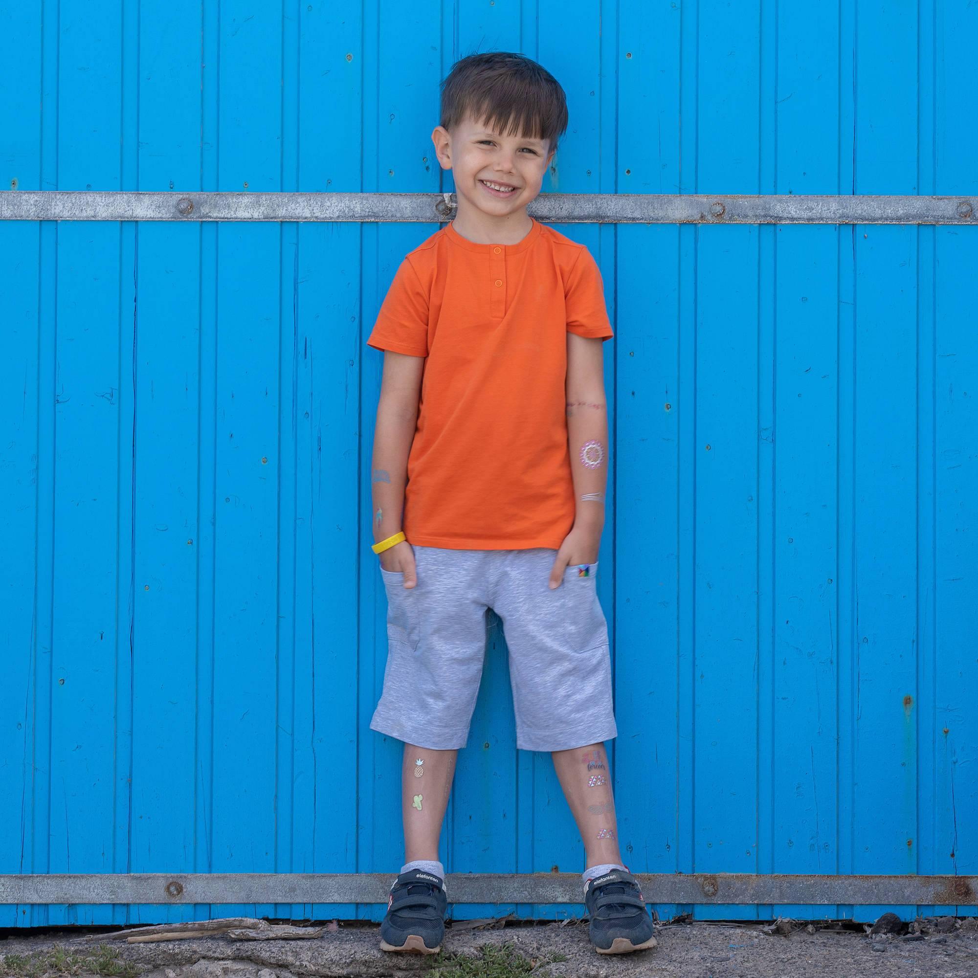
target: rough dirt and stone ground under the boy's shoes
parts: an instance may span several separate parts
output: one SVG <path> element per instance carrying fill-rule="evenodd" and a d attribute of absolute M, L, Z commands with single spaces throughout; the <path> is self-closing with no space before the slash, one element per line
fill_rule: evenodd
<path fill-rule="evenodd" d="M 885 929 L 885 928 L 884 928 Z M 806 978 L 927 976 L 978 978 L 978 921 L 926 918 L 894 933 L 871 934 L 840 921 L 715 923 L 678 920 L 657 925 L 658 946 L 599 956 L 587 923 L 507 923 L 446 933 L 438 956 L 389 955 L 378 928 L 332 922 L 314 939 L 238 940 L 226 934 L 130 944 L 106 939 L 106 928 L 6 931 L 0 934 L 0 978 L 117 975 L 119 978 L 299 978 L 407 976 L 425 978 Z M 79 940 L 79 938 L 81 938 Z"/>

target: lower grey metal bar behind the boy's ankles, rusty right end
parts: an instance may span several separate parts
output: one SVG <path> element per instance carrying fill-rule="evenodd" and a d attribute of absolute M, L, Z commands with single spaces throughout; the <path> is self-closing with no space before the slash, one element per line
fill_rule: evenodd
<path fill-rule="evenodd" d="M 975 906 L 978 876 L 637 873 L 661 904 Z M 0 875 L 2 904 L 383 904 L 390 873 Z M 577 873 L 449 873 L 450 903 L 580 904 Z"/>

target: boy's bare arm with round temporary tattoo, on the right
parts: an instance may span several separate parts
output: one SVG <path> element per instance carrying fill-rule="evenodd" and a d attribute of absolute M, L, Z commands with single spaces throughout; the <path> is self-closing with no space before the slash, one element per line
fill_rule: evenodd
<path fill-rule="evenodd" d="M 577 543 L 586 554 L 571 554 L 569 561 L 598 559 L 604 528 L 604 488 L 608 470 L 608 419 L 604 400 L 603 340 L 598 336 L 567 333 L 567 441 L 574 478 Z"/>

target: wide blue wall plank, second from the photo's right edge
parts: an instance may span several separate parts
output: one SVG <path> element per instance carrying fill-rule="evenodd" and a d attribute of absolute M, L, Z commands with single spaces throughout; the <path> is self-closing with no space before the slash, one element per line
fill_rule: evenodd
<path fill-rule="evenodd" d="M 856 193 L 915 193 L 916 10 L 859 0 L 856 48 Z M 916 260 L 915 228 L 857 228 L 856 872 L 916 868 Z"/>

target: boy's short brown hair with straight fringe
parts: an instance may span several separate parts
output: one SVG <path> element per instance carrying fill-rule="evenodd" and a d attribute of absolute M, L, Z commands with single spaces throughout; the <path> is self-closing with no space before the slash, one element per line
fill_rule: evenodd
<path fill-rule="evenodd" d="M 567 99 L 545 67 L 523 55 L 487 51 L 457 61 L 441 83 L 441 125 L 451 132 L 467 115 L 556 150 L 567 128 Z"/>

